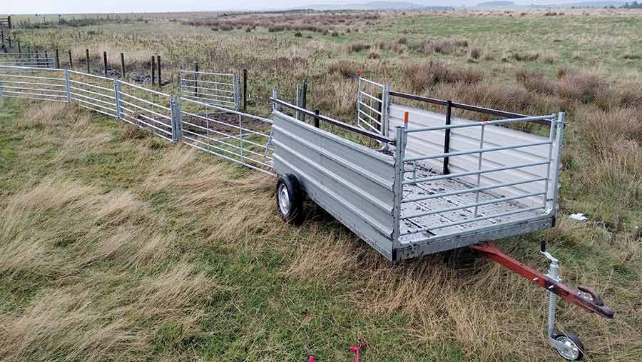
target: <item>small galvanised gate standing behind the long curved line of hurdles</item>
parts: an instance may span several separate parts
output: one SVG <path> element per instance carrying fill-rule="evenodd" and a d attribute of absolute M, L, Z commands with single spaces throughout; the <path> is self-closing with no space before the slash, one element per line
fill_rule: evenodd
<path fill-rule="evenodd" d="M 240 109 L 240 79 L 236 74 L 180 70 L 180 96 L 221 107 Z M 224 111 L 225 111 L 224 110 Z"/>

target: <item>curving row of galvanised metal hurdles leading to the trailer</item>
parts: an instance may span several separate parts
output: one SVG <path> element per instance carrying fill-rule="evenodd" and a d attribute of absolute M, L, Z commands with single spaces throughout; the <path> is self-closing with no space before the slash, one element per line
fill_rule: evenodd
<path fill-rule="evenodd" d="M 238 77 L 233 79 L 238 86 Z M 238 106 L 238 91 L 236 94 L 234 106 Z M 0 65 L 0 99 L 4 97 L 75 103 L 147 129 L 166 141 L 182 141 L 250 169 L 273 174 L 272 121 L 230 109 L 229 104 L 178 98 L 80 71 Z"/>

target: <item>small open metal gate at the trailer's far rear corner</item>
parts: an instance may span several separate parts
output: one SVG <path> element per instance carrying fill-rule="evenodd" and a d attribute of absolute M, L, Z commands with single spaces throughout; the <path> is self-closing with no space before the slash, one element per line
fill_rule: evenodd
<path fill-rule="evenodd" d="M 357 79 L 357 126 L 387 136 L 388 91 L 387 84 Z"/>

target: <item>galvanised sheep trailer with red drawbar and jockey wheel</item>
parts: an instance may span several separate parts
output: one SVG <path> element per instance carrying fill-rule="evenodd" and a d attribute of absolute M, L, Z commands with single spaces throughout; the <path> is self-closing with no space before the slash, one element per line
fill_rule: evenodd
<path fill-rule="evenodd" d="M 546 288 L 549 343 L 560 356 L 580 359 L 579 338 L 555 333 L 556 297 L 606 318 L 613 318 L 611 308 L 591 288 L 564 286 L 544 243 L 546 275 L 489 243 L 555 225 L 564 113 L 512 114 L 402 94 L 366 79 L 358 88 L 357 126 L 289 104 L 275 90 L 270 142 L 284 221 L 297 221 L 310 198 L 390 261 L 465 246 L 481 251 Z M 446 113 L 397 99 L 444 106 Z M 492 118 L 457 118 L 454 109 Z"/>

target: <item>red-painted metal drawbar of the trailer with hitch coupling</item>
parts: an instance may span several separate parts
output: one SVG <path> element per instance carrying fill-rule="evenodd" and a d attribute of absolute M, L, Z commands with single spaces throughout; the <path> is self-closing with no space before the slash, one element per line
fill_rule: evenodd
<path fill-rule="evenodd" d="M 613 318 L 613 309 L 608 306 L 604 306 L 603 303 L 596 303 L 593 298 L 580 293 L 574 289 L 565 286 L 559 281 L 554 280 L 553 278 L 546 276 L 535 269 L 524 265 L 516 261 L 514 258 L 507 256 L 502 253 L 499 248 L 497 248 L 494 243 L 481 243 L 479 245 L 469 246 L 470 248 L 481 251 L 484 253 L 484 256 L 491 259 L 492 261 L 499 263 L 501 266 L 508 268 L 510 271 L 523 276 L 529 281 L 541 286 L 551 293 L 554 293 L 560 296 L 565 301 L 575 304 L 585 311 L 591 313 L 597 313 L 599 316 L 602 316 L 607 319 Z"/>

